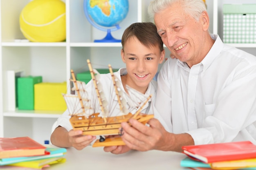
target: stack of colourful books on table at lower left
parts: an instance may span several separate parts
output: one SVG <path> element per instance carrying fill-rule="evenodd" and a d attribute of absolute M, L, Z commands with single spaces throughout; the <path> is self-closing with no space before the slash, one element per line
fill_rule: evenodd
<path fill-rule="evenodd" d="M 65 148 L 48 148 L 29 137 L 0 138 L 0 169 L 43 169 L 65 162 Z"/>

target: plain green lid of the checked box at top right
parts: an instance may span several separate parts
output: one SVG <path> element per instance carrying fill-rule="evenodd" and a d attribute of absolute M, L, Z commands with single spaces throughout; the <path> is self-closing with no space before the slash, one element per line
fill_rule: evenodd
<path fill-rule="evenodd" d="M 249 14 L 256 13 L 256 4 L 223 4 L 223 13 Z"/>

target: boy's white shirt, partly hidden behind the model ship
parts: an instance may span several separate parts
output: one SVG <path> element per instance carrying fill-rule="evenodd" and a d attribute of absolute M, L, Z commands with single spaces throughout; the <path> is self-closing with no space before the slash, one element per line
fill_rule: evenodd
<path fill-rule="evenodd" d="M 120 80 L 121 82 L 121 75 L 126 75 L 127 71 L 126 68 L 120 68 L 119 71 L 115 72 L 114 75 Z M 117 98 L 115 95 L 115 91 L 111 88 L 114 88 L 112 86 L 112 77 L 110 73 L 108 74 L 101 74 L 100 75 L 99 81 L 102 84 L 102 89 L 105 93 L 105 97 L 108 100 L 108 108 L 110 110 L 110 117 L 113 116 L 119 116 L 120 115 L 120 110 L 119 110 L 119 105 L 117 102 Z M 124 87 L 121 85 L 122 90 L 124 91 Z M 146 114 L 154 114 L 154 117 L 158 119 L 161 124 L 164 126 L 164 128 L 170 132 L 168 129 L 168 126 L 166 125 L 165 121 L 162 119 L 159 113 L 157 113 L 157 110 L 155 109 L 155 106 L 153 103 L 155 103 L 155 97 L 156 97 L 156 90 L 157 90 L 157 83 L 155 80 L 152 80 L 150 84 L 148 85 L 148 89 L 145 93 L 146 96 L 149 96 L 152 94 L 151 99 L 149 102 L 144 106 L 144 108 L 141 110 L 141 113 L 146 113 Z M 88 82 L 86 84 L 86 91 L 88 92 L 88 96 L 90 97 L 92 101 L 92 106 L 94 106 L 94 112 L 95 113 L 101 113 L 101 108 L 99 106 L 99 101 L 97 99 L 97 95 L 94 89 L 94 84 L 92 81 Z M 115 98 L 115 99 L 114 99 Z M 148 107 L 150 107 L 148 109 Z M 132 114 L 134 114 L 137 111 L 137 109 L 134 109 L 131 111 Z M 70 113 L 68 110 L 65 110 L 65 112 L 58 118 L 57 123 L 55 128 L 58 126 L 62 126 L 63 128 L 67 129 L 67 131 L 70 131 L 72 129 L 72 126 L 70 124 Z M 54 129 L 55 129 L 54 128 Z"/>

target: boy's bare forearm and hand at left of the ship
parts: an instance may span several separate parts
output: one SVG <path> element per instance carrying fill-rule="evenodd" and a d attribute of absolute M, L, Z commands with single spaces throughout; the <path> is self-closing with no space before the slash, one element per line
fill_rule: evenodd
<path fill-rule="evenodd" d="M 51 142 L 53 145 L 61 148 L 74 147 L 77 150 L 82 150 L 96 139 L 95 136 L 82 135 L 81 130 L 70 130 L 69 132 L 58 126 L 51 135 Z"/>

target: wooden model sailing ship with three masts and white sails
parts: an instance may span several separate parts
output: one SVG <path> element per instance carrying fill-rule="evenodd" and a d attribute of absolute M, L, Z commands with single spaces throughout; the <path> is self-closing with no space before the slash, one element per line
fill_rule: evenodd
<path fill-rule="evenodd" d="M 154 117 L 154 115 L 140 113 L 152 95 L 146 97 L 144 94 L 139 93 L 129 86 L 126 86 L 129 95 L 121 91 L 121 88 L 119 88 L 121 83 L 113 74 L 112 67 L 110 65 L 108 67 L 112 76 L 112 82 L 120 108 L 120 116 L 108 117 L 109 110 L 106 107 L 108 105 L 108 101 L 103 95 L 104 92 L 100 89 L 100 74 L 96 70 L 92 69 L 90 60 L 87 60 L 87 62 L 101 107 L 101 116 L 99 116 L 100 113 L 94 113 L 94 110 L 90 105 L 90 99 L 88 98 L 87 91 L 85 89 L 85 82 L 77 81 L 74 72 L 71 70 L 72 79 L 70 79 L 70 81 L 74 84 L 72 90 L 75 90 L 76 94 L 66 94 L 63 95 L 63 97 L 67 104 L 67 109 L 70 112 L 70 123 L 74 130 L 82 130 L 83 135 L 121 135 L 121 132 L 119 132 L 121 122 L 128 122 L 130 118 L 134 118 L 142 124 L 146 124 L 149 119 Z M 131 98 L 131 96 L 135 97 Z M 135 114 L 129 113 L 127 104 L 131 108 L 138 108 L 137 112 Z M 101 139 L 98 139 L 93 144 L 93 147 L 116 145 L 125 145 L 121 140 L 121 137 L 110 137 L 106 138 L 106 140 L 101 137 Z"/>

